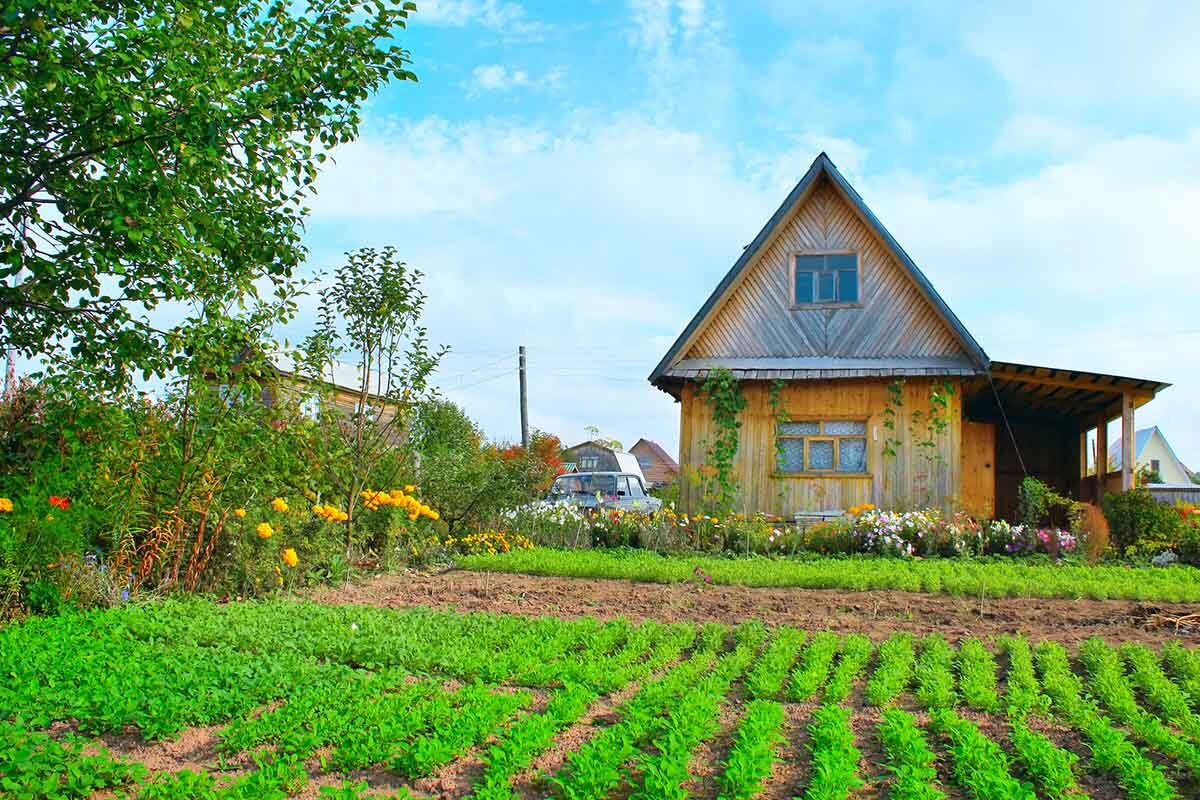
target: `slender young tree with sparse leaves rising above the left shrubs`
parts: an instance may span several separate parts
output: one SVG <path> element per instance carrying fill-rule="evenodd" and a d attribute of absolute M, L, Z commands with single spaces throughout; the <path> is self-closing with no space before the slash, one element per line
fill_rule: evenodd
<path fill-rule="evenodd" d="M 354 512 L 364 489 L 386 488 L 401 461 L 396 449 L 409 437 L 413 409 L 427 399 L 430 374 L 445 355 L 431 349 L 421 312 L 421 272 L 396 258 L 392 247 L 347 253 L 347 263 L 320 294 L 316 332 L 301 349 L 298 373 L 325 386 L 320 408 L 329 435 L 318 440 L 319 463 L 338 488 L 346 512 L 347 553 L 353 549 Z M 356 369 L 352 408 L 340 408 L 332 386 L 338 371 Z M 370 481 L 379 481 L 368 486 Z"/>

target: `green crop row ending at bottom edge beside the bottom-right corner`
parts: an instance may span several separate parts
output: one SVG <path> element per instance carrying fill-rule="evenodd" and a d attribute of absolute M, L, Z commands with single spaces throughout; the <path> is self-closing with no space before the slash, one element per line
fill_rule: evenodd
<path fill-rule="evenodd" d="M 1129 800 L 1171 800 L 1176 793 L 1162 768 L 1142 756 L 1129 738 L 1084 698 L 1082 681 L 1070 670 L 1067 650 L 1044 642 L 1034 650 L 1042 686 L 1051 708 L 1079 729 L 1092 751 L 1092 764 L 1116 776 Z"/>

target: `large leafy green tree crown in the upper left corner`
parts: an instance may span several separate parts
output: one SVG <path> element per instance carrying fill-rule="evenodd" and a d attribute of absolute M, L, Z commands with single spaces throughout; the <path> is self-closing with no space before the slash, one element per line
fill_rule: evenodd
<path fill-rule="evenodd" d="M 187 357 L 156 307 L 202 299 L 211 318 L 256 284 L 286 295 L 318 164 L 373 91 L 415 80 L 392 40 L 413 8 L 6 4 L 0 345 L 115 363 L 119 383 Z"/>

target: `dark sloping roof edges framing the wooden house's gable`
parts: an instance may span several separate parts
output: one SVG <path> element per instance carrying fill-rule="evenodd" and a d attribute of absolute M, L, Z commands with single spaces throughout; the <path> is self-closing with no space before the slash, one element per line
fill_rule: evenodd
<path fill-rule="evenodd" d="M 754 241 L 745 247 L 742 255 L 738 257 L 738 260 L 734 261 L 733 266 L 716 285 L 716 289 L 713 290 L 713 294 L 708 297 L 704 305 L 701 306 L 700 311 L 696 312 L 696 315 L 692 317 L 691 321 L 676 339 L 674 344 L 671 345 L 666 355 L 662 356 L 658 366 L 654 367 L 654 371 L 649 375 L 650 383 L 658 385 L 661 379 L 668 377 L 668 369 L 671 369 L 684 355 L 684 349 L 688 343 L 722 305 L 731 290 L 738 283 L 742 273 L 755 263 L 755 259 L 772 240 L 776 229 L 786 224 L 786 222 L 799 207 L 800 203 L 803 203 L 803 200 L 808 197 L 809 190 L 812 188 L 822 178 L 827 178 L 833 184 L 839 194 L 841 194 L 841 197 L 851 205 L 868 229 L 880 239 L 884 248 L 895 258 L 895 260 L 900 264 L 900 267 L 908 273 L 920 293 L 925 296 L 930 305 L 932 305 L 942 321 L 946 323 L 946 325 L 962 344 L 970 362 L 959 367 L 959 371 L 973 373 L 988 368 L 988 354 L 984 353 L 979 343 L 976 342 L 973 336 L 971 336 L 971 332 L 967 331 L 962 321 L 959 320 L 953 311 L 950 311 L 950 307 L 946 305 L 946 301 L 942 300 L 941 295 L 937 294 L 937 290 L 934 289 L 929 278 L 925 277 L 904 248 L 900 247 L 900 243 L 896 242 L 892 234 L 888 233 L 887 228 L 883 227 L 883 223 L 881 223 L 875 213 L 866 206 L 866 203 L 864 203 L 863 198 L 857 191 L 854 191 L 854 187 L 850 185 L 840 172 L 838 172 L 838 168 L 829 160 L 829 156 L 822 152 L 814 160 L 812 166 L 809 167 L 804 178 L 802 178 L 791 193 L 788 193 L 787 198 L 779 206 L 775 213 L 772 215 L 770 219 L 767 221 L 767 224 L 758 231 L 758 235 L 755 236 Z M 714 363 L 713 366 L 718 365 Z M 696 365 L 692 368 L 702 371 L 703 365 Z"/>

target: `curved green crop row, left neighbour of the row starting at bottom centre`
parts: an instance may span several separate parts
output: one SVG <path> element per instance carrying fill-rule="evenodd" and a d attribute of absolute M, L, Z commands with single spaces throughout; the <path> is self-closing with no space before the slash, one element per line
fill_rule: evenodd
<path fill-rule="evenodd" d="M 472 796 L 476 800 L 516 798 L 514 776 L 548 750 L 558 733 L 577 722 L 602 693 L 641 680 L 678 658 L 695 636 L 692 626 L 666 628 L 647 622 L 611 656 L 583 657 L 572 664 L 572 669 L 564 673 L 562 688 L 553 693 L 542 712 L 518 718 L 482 754 L 484 772 Z"/>

